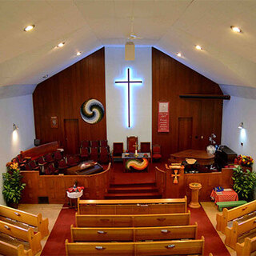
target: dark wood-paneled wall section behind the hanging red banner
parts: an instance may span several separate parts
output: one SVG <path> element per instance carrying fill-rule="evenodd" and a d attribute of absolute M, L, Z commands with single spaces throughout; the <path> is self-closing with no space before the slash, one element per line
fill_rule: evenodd
<path fill-rule="evenodd" d="M 222 100 L 179 98 L 180 94 L 222 94 L 218 84 L 152 48 L 152 142 L 162 155 L 206 150 L 214 133 L 221 142 Z M 158 133 L 158 101 L 170 102 L 170 132 Z M 182 141 L 183 140 L 183 141 Z"/>

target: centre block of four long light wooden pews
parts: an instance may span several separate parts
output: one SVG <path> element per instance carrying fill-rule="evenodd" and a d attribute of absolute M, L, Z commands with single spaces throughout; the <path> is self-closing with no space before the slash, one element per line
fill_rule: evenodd
<path fill-rule="evenodd" d="M 185 198 L 78 200 L 66 256 L 204 254 Z"/>

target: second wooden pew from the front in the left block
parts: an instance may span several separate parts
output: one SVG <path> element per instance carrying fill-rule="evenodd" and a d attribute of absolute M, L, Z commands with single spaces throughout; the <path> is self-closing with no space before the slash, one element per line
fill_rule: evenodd
<path fill-rule="evenodd" d="M 38 232 L 34 234 L 34 230 L 31 227 L 28 230 L 25 230 L 19 226 L 0 221 L 0 240 L 14 246 L 18 246 L 23 242 L 26 250 L 31 249 L 33 255 L 42 250 L 40 243 L 41 233 Z"/>

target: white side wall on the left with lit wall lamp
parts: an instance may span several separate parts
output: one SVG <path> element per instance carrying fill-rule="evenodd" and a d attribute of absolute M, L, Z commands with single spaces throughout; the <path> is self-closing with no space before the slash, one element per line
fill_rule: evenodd
<path fill-rule="evenodd" d="M 32 95 L 0 99 L 0 204 L 2 198 L 2 173 L 21 150 L 34 146 L 34 114 Z M 18 130 L 13 131 L 13 123 Z"/>

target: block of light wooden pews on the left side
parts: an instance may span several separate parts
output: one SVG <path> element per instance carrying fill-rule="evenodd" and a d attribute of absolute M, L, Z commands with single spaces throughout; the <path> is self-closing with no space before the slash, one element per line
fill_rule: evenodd
<path fill-rule="evenodd" d="M 48 218 L 0 205 L 0 254 L 33 256 L 49 234 Z"/>

